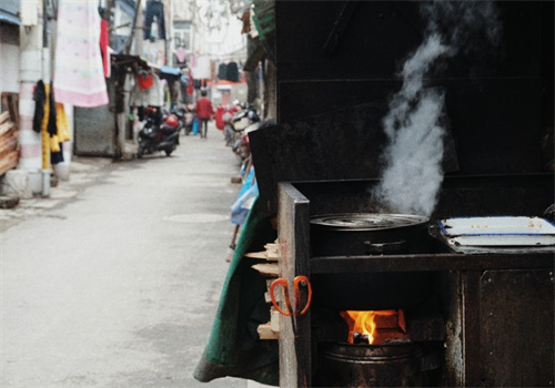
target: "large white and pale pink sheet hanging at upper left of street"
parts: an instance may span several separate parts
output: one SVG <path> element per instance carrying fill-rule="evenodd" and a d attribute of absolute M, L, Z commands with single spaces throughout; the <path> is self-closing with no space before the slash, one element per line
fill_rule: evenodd
<path fill-rule="evenodd" d="M 99 25 L 93 1 L 59 1 L 54 65 L 58 102 L 83 108 L 108 104 Z"/>

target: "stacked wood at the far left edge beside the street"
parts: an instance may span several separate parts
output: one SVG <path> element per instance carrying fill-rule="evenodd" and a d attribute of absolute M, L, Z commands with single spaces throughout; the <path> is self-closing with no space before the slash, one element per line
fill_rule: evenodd
<path fill-rule="evenodd" d="M 2 93 L 2 105 L 8 110 L 0 114 L 0 175 L 19 162 L 17 103 L 17 94 Z"/>

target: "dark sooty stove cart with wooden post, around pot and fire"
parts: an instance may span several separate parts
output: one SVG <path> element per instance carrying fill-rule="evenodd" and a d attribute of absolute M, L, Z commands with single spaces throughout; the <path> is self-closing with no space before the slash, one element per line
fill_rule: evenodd
<path fill-rule="evenodd" d="M 447 178 L 434 219 L 465 214 L 452 201 L 472 188 L 476 180 Z M 537 213 L 548 203 L 552 176 L 490 178 L 484 195 L 505 194 L 522 187 L 539 195 L 512 211 Z M 478 182 L 480 183 L 480 182 Z M 305 275 L 313 285 L 307 314 L 281 317 L 280 385 L 309 386 L 545 386 L 554 384 L 554 249 L 496 248 L 482 254 L 451 249 L 432 219 L 428 252 L 314 256 L 310 219 L 317 214 L 373 212 L 367 190 L 374 181 L 280 183 L 278 194 L 281 276 L 292 280 Z M 552 194 L 549 194 L 552 193 Z M 456 194 L 456 195 L 455 195 Z M 457 207 L 458 206 L 458 207 Z M 506 206 L 500 205 L 500 206 Z M 498 206 L 490 206 L 498 214 Z M 503 210 L 507 212 L 508 208 Z M 486 212 L 487 213 L 487 212 Z M 376 274 L 425 275 L 426 298 L 406 306 L 350 305 L 356 292 L 352 278 Z M 350 279 L 342 282 L 342 279 Z M 375 277 L 374 277 L 375 278 Z M 352 287 L 350 287 L 350 285 Z M 415 293 L 421 292 L 415 289 Z M 331 303 L 327 303 L 330 302 Z M 362 298 L 364 300 L 364 298 Z M 403 308 L 410 340 L 383 346 L 346 344 L 346 309 Z"/>

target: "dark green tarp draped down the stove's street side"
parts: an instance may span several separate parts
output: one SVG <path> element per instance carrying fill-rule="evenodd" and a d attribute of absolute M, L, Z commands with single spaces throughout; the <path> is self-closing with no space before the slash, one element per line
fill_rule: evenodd
<path fill-rule="evenodd" d="M 270 320 L 270 305 L 264 300 L 266 280 L 251 268 L 261 261 L 244 257 L 245 253 L 264 251 L 276 235 L 271 216 L 256 200 L 242 227 L 210 338 L 194 371 L 199 381 L 232 376 L 279 385 L 278 341 L 260 340 L 256 331 Z"/>

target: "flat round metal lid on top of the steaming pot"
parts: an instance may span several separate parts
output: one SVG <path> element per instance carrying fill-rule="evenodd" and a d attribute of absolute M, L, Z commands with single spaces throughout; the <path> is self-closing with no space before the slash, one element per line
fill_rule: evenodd
<path fill-rule="evenodd" d="M 383 231 L 425 224 L 427 217 L 413 214 L 343 213 L 311 218 L 312 225 L 333 231 Z"/>

